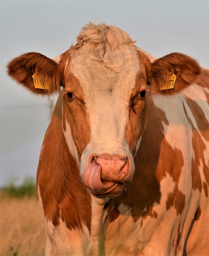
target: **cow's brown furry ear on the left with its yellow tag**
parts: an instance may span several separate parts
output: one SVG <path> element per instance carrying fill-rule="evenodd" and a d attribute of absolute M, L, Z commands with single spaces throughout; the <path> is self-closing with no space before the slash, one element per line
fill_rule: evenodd
<path fill-rule="evenodd" d="M 38 52 L 28 52 L 16 57 L 8 63 L 7 68 L 9 76 L 35 94 L 50 95 L 59 92 L 63 85 L 61 65 Z M 43 89 L 36 88 L 35 84 L 36 87 L 41 85 Z"/>

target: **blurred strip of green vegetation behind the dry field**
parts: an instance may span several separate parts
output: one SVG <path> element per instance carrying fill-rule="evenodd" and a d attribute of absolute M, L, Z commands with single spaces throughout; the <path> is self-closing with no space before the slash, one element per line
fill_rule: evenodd
<path fill-rule="evenodd" d="M 1 189 L 1 195 L 5 197 L 23 198 L 36 196 L 36 183 L 31 177 L 25 178 L 21 185 L 15 185 L 11 182 L 9 185 Z"/>

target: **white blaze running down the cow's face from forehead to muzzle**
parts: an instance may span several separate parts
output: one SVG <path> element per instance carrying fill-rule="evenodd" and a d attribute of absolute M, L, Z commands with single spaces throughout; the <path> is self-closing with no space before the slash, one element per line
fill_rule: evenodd
<path fill-rule="evenodd" d="M 116 53 L 115 53 L 116 52 Z M 130 92 L 140 70 L 134 47 L 114 52 L 114 61 L 102 61 L 83 45 L 72 58 L 71 72 L 79 79 L 90 116 L 91 141 L 81 159 L 81 174 L 91 154 L 133 156 L 125 140 Z"/>

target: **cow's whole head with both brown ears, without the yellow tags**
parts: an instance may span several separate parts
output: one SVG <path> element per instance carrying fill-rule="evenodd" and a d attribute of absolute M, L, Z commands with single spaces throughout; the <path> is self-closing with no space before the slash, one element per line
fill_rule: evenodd
<path fill-rule="evenodd" d="M 175 87 L 161 91 L 171 72 Z M 48 90 L 34 87 L 34 73 L 45 78 Z M 146 94 L 177 93 L 199 73 L 196 61 L 179 53 L 151 62 L 126 32 L 105 24 L 84 27 L 77 44 L 54 60 L 30 52 L 8 64 L 8 74 L 36 94 L 64 87 L 63 133 L 82 182 L 97 197 L 119 195 L 133 178 Z"/>

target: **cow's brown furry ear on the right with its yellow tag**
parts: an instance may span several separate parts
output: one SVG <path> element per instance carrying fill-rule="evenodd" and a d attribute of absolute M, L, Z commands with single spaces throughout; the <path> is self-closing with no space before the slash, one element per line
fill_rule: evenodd
<path fill-rule="evenodd" d="M 173 94 L 196 81 L 201 68 L 196 60 L 182 53 L 171 53 L 147 66 L 150 91 Z M 174 84 L 173 84 L 174 82 Z M 169 89 L 173 87 L 172 89 Z"/>

